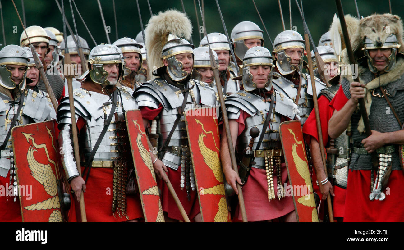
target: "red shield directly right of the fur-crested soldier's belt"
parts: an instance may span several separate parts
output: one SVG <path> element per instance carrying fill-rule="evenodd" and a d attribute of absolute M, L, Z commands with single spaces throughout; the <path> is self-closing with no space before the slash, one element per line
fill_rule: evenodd
<path fill-rule="evenodd" d="M 203 222 L 231 222 L 220 164 L 220 136 L 216 108 L 185 112 L 189 147 Z"/>

